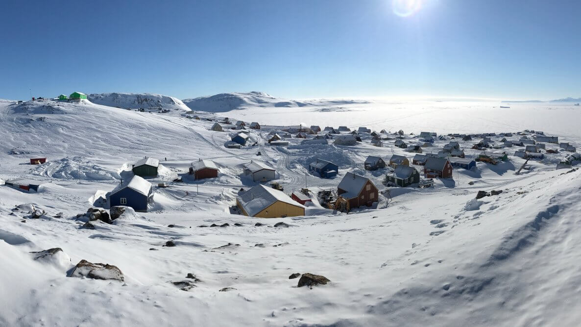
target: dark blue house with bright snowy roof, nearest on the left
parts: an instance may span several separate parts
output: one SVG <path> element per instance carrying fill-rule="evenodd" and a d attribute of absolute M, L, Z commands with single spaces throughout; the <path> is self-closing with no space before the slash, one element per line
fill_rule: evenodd
<path fill-rule="evenodd" d="M 109 194 L 109 205 L 124 205 L 135 211 L 145 212 L 153 202 L 152 184 L 141 176 L 133 176 L 128 183 L 121 183 Z"/>

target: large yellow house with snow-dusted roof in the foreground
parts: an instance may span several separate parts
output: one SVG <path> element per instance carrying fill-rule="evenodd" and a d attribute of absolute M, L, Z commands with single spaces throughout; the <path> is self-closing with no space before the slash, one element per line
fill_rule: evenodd
<path fill-rule="evenodd" d="M 236 197 L 236 205 L 243 215 L 256 218 L 284 218 L 304 216 L 304 206 L 293 201 L 282 191 L 257 185 Z"/>

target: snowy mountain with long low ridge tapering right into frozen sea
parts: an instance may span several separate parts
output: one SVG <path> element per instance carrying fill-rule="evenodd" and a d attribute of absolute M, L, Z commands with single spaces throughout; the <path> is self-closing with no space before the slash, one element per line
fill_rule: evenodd
<path fill-rule="evenodd" d="M 358 100 L 345 100 L 345 99 L 317 99 L 317 100 L 306 100 L 297 101 L 290 99 L 283 99 L 272 97 L 272 95 L 252 91 L 248 93 L 220 93 L 216 95 L 210 95 L 206 97 L 198 97 L 193 99 L 182 100 L 189 109 L 193 111 L 206 111 L 206 112 L 227 112 L 236 109 L 245 109 L 252 107 L 270 107 L 270 108 L 280 108 L 280 107 L 304 107 L 304 106 L 329 106 L 329 105 L 345 105 L 345 104 L 363 104 L 368 103 L 367 101 Z"/>

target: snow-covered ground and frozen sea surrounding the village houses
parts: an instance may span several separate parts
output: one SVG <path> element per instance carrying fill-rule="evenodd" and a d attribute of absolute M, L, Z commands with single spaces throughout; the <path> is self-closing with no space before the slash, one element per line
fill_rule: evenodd
<path fill-rule="evenodd" d="M 247 100 L 224 105 L 228 110 L 204 110 L 206 99 L 199 106 L 184 102 L 207 111 L 202 118 L 263 126 L 403 129 L 408 144 L 421 144 L 408 134 L 420 131 L 524 129 L 581 141 L 579 107 L 567 104 L 500 109 L 493 102 Z M 250 131 L 255 147 L 228 149 L 231 133 L 211 131 L 214 122 L 188 119 L 181 110 L 116 106 L 123 107 L 0 101 L 0 180 L 46 182 L 37 193 L 0 186 L 1 326 L 578 325 L 581 172 L 555 170 L 567 152 L 529 161 L 515 175 L 524 160 L 512 154 L 522 147 L 505 148 L 508 162 L 455 169 L 453 180 L 435 180 L 428 189 L 388 188 L 389 203 L 382 198 L 350 214 L 314 204 L 306 216 L 248 218 L 229 213 L 238 190 L 256 184 L 242 178 L 243 163 L 274 166 L 285 193 L 305 184 L 333 189 L 349 171 L 385 190 L 388 170 L 364 170 L 365 158 L 403 154 L 411 160 L 414 154 L 394 147 L 394 140 L 374 147 L 369 134 L 354 147 L 300 145 L 296 138 L 288 147 L 271 147 L 268 129 Z M 436 140 L 433 152 L 449 141 Z M 460 141 L 467 157 L 479 153 L 470 149 L 478 141 Z M 131 163 L 144 156 L 162 165 L 150 182 L 170 185 L 154 187 L 153 208 L 81 228 L 87 220 L 77 214 L 131 176 Z M 48 162 L 28 164 L 35 157 Z M 217 163 L 217 178 L 196 182 L 187 175 L 199 158 Z M 339 175 L 310 175 L 306 166 L 316 158 L 337 163 Z M 177 177 L 184 183 L 172 182 Z M 479 190 L 503 192 L 476 200 Z M 29 219 L 30 204 L 45 215 Z M 266 225 L 255 226 L 259 222 Z M 289 226 L 274 227 L 277 222 Z M 223 223 L 229 226 L 209 227 Z M 163 246 L 170 240 L 175 247 Z M 31 253 L 56 247 L 63 251 L 42 260 Z M 80 260 L 115 265 L 124 281 L 66 277 Z M 331 282 L 309 289 L 289 279 L 307 272 Z M 232 289 L 220 292 L 226 287 Z"/>

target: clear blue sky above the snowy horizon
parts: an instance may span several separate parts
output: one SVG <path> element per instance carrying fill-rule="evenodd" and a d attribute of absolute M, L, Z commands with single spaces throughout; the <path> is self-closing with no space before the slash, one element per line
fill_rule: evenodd
<path fill-rule="evenodd" d="M 0 98 L 581 97 L 581 1 L 421 2 L 2 1 Z"/>

